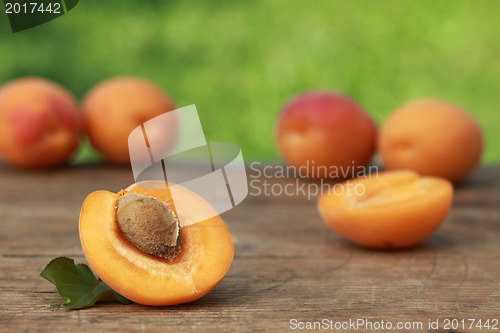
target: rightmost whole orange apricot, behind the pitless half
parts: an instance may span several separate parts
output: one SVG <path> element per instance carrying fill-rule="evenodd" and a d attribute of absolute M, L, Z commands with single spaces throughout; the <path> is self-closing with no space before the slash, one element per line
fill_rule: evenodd
<path fill-rule="evenodd" d="M 483 136 L 465 111 L 450 103 L 422 100 L 401 106 L 382 124 L 378 147 L 388 170 L 463 180 L 480 162 Z"/>

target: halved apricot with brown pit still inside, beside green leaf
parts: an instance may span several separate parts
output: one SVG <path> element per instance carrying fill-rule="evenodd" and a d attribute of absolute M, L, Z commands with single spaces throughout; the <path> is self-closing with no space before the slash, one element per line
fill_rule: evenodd
<path fill-rule="evenodd" d="M 93 192 L 80 214 L 89 265 L 116 292 L 145 305 L 204 296 L 222 280 L 234 254 L 231 234 L 218 215 L 181 226 L 179 214 L 198 221 L 200 212 L 213 208 L 185 188 L 176 192 L 174 208 L 164 184 L 133 185 L 118 194 Z"/>

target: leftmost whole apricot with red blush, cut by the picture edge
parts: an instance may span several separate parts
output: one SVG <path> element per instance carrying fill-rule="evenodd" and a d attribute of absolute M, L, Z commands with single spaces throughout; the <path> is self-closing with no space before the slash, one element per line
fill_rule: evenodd
<path fill-rule="evenodd" d="M 81 133 L 75 98 L 58 84 L 27 77 L 0 88 L 0 155 L 7 164 L 61 165 L 78 147 Z"/>

